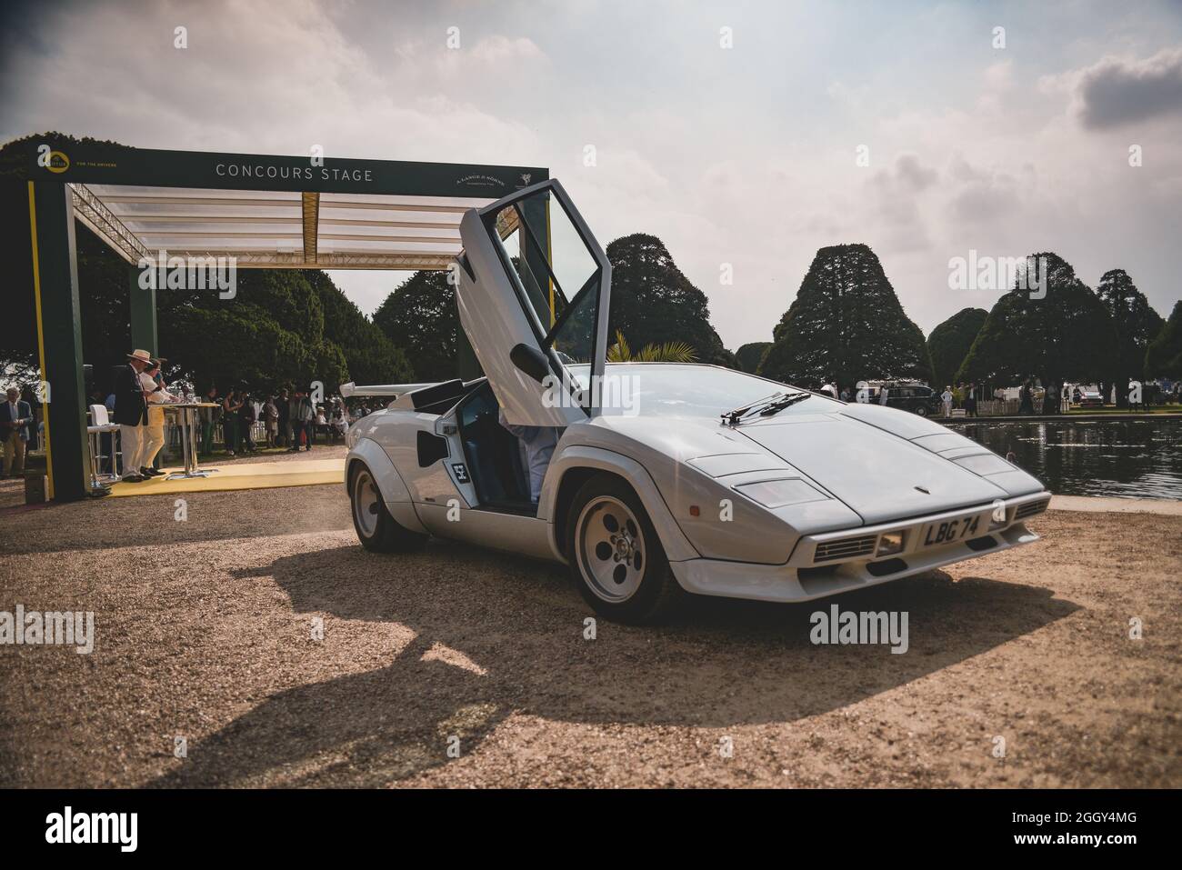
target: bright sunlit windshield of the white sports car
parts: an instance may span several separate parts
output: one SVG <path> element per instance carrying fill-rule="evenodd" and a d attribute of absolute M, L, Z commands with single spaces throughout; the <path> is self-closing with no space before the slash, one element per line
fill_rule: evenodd
<path fill-rule="evenodd" d="M 582 389 L 587 388 L 587 365 L 567 365 Z M 604 376 L 603 413 L 609 416 L 719 417 L 741 405 L 772 398 L 785 385 L 713 365 L 677 363 L 611 363 Z M 839 403 L 810 396 L 782 411 L 817 414 L 837 410 Z"/>

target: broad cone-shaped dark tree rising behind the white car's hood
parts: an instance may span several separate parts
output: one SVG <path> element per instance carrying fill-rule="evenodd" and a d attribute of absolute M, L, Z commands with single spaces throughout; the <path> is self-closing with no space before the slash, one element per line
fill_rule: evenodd
<path fill-rule="evenodd" d="M 866 245 L 818 251 L 772 337 L 759 374 L 777 381 L 843 389 L 870 378 L 931 379 L 923 332 Z"/>

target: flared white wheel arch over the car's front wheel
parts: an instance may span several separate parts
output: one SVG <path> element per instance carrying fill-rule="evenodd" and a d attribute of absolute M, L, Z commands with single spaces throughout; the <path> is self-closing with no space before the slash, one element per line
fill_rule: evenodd
<path fill-rule="evenodd" d="M 635 459 L 613 453 L 612 450 L 605 450 L 602 447 L 573 444 L 563 449 L 551 460 L 546 480 L 541 487 L 541 495 L 538 500 L 538 518 L 546 520 L 550 546 L 553 548 L 557 558 L 565 560 L 561 543 L 558 540 L 558 524 L 554 515 L 556 502 L 558 501 L 558 492 L 563 478 L 569 470 L 574 468 L 595 468 L 603 472 L 611 472 L 626 480 L 629 486 L 639 496 L 641 504 L 644 505 L 644 511 L 649 514 L 649 520 L 661 538 L 661 546 L 664 548 L 669 561 L 684 561 L 686 559 L 696 559 L 700 557 L 700 553 L 677 526 L 673 513 L 669 511 L 669 506 L 665 504 L 661 492 L 657 489 L 657 485 L 644 466 Z"/>

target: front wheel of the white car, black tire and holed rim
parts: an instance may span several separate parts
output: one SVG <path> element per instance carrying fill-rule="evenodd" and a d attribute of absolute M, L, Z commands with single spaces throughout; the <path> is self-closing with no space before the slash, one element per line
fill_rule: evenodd
<path fill-rule="evenodd" d="M 571 582 L 597 613 L 645 624 L 676 611 L 684 592 L 644 506 L 623 480 L 612 474 L 589 479 L 574 494 L 565 528 Z M 592 546 L 596 537 L 604 539 Z"/>

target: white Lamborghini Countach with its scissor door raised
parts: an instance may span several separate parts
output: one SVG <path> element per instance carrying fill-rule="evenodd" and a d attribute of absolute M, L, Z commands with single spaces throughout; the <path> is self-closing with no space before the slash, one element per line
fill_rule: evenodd
<path fill-rule="evenodd" d="M 799 602 L 1038 539 L 1043 485 L 914 414 L 714 365 L 606 363 L 611 265 L 558 181 L 460 225 L 473 381 L 352 426 L 346 486 L 369 550 L 429 535 L 570 566 L 599 613 L 683 593 Z"/>

